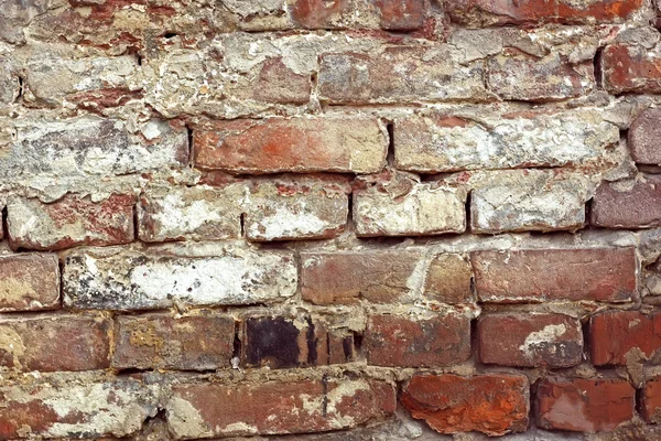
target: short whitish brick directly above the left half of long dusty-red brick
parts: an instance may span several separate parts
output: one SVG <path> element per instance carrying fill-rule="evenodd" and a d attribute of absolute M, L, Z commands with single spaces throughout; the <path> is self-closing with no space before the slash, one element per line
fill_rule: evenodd
<path fill-rule="evenodd" d="M 575 230 L 593 184 L 562 170 L 502 171 L 470 193 L 474 233 Z"/>

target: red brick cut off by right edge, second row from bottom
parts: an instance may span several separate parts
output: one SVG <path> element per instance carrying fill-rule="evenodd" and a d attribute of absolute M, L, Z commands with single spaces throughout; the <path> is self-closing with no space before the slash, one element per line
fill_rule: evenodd
<path fill-rule="evenodd" d="M 661 314 L 608 311 L 593 315 L 589 347 L 597 366 L 626 365 L 628 356 L 652 357 L 661 347 Z"/>

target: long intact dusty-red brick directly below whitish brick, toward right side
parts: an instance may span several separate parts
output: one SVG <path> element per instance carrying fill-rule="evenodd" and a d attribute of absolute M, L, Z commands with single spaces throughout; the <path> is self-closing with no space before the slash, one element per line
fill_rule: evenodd
<path fill-rule="evenodd" d="M 637 290 L 633 248 L 475 251 L 470 260 L 484 302 L 624 302 Z"/>

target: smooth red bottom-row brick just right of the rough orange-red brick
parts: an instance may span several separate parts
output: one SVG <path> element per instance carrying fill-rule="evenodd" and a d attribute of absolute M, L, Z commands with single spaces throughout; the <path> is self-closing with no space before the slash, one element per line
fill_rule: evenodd
<path fill-rule="evenodd" d="M 631 420 L 636 390 L 625 380 L 555 378 L 538 388 L 538 426 L 579 432 L 609 431 Z"/>

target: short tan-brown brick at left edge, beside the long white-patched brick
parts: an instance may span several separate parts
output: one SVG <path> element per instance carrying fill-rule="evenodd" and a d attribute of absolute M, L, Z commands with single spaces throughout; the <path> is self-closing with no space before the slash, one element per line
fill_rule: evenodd
<path fill-rule="evenodd" d="M 41 311 L 59 308 L 57 256 L 0 257 L 0 311 Z"/>

